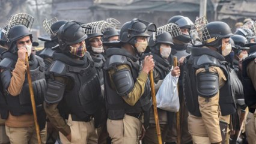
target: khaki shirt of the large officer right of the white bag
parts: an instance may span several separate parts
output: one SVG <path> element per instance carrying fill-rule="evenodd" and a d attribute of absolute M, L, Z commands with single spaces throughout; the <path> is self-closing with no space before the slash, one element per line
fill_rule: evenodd
<path fill-rule="evenodd" d="M 200 68 L 196 71 L 196 74 L 206 71 L 204 68 Z M 216 73 L 219 76 L 219 88 L 224 86 L 227 78 L 224 72 L 219 67 L 210 67 L 209 71 Z M 197 117 L 189 113 L 187 118 L 189 133 L 195 136 L 209 137 L 211 143 L 218 143 L 222 141 L 221 130 L 219 127 L 219 121 L 225 121 L 230 123 L 230 115 L 221 116 L 221 109 L 219 107 L 219 91 L 218 93 L 209 98 L 206 102 L 206 98 L 198 96 L 198 103 L 200 106 L 200 112 L 202 117 Z"/>

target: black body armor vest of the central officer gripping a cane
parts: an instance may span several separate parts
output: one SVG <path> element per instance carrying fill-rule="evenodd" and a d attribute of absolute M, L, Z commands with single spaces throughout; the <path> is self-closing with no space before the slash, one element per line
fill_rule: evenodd
<path fill-rule="evenodd" d="M 115 55 L 122 55 L 122 61 L 116 61 Z M 125 113 L 141 113 L 150 110 L 152 105 L 150 94 L 150 81 L 149 79 L 145 83 L 145 91 L 141 98 L 136 102 L 134 106 L 127 104 L 123 98 L 117 94 L 115 89 L 111 87 L 111 80 L 109 79 L 108 71 L 112 68 L 115 69 L 118 65 L 129 65 L 132 73 L 133 81 L 136 82 L 136 78 L 139 74 L 140 65 L 138 64 L 138 58 L 132 56 L 126 50 L 111 48 L 107 50 L 108 59 L 106 60 L 104 67 L 105 77 L 105 94 L 106 94 L 106 109 L 108 110 L 108 118 L 117 120 L 123 119 Z M 148 115 L 149 116 L 149 115 Z M 149 119 L 146 119 L 149 120 Z"/>

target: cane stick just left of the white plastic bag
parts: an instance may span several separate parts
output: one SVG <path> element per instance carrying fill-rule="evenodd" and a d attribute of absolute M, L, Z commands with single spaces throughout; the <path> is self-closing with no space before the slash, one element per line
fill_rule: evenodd
<path fill-rule="evenodd" d="M 154 91 L 153 70 L 150 71 L 150 86 L 151 86 L 151 95 L 152 95 L 153 109 L 154 109 L 154 121 L 156 122 L 156 133 L 157 133 L 158 143 L 162 144 L 162 137 L 161 137 L 159 119 L 157 114 L 157 107 L 156 107 L 156 92 Z"/>

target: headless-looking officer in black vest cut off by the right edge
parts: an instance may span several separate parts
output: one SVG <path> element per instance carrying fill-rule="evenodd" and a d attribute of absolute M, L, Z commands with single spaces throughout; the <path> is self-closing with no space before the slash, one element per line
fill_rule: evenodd
<path fill-rule="evenodd" d="M 249 107 L 249 113 L 246 118 L 246 137 L 248 143 L 256 142 L 256 48 L 255 45 L 250 47 L 249 56 L 243 61 L 243 70 L 242 70 L 242 82 L 245 89 L 245 103 Z"/>

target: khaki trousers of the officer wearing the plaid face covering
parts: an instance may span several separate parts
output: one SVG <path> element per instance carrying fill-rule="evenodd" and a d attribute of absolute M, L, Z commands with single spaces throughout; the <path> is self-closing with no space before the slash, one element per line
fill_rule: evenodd
<path fill-rule="evenodd" d="M 59 138 L 64 144 L 97 144 L 98 136 L 94 128 L 94 119 L 90 122 L 72 121 L 71 115 L 66 120 L 71 129 L 71 142 L 59 132 Z"/>

